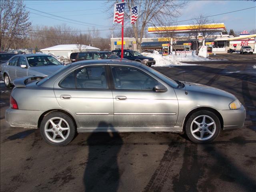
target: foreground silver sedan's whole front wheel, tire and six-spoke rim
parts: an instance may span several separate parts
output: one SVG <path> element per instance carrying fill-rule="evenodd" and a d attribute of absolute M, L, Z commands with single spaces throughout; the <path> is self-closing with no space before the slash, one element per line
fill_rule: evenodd
<path fill-rule="evenodd" d="M 188 138 L 198 144 L 214 141 L 220 133 L 220 120 L 216 114 L 201 110 L 192 114 L 186 122 Z"/>

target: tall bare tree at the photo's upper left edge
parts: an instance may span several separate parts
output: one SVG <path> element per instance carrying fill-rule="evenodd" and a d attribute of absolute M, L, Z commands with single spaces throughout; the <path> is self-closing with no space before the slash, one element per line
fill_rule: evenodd
<path fill-rule="evenodd" d="M 28 38 L 31 23 L 22 0 L 1 0 L 0 12 L 0 47 L 7 51 L 15 42 Z"/>

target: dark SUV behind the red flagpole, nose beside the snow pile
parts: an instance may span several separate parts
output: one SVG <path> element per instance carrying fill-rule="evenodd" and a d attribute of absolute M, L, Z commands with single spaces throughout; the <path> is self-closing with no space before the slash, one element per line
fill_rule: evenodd
<path fill-rule="evenodd" d="M 119 57 L 121 56 L 121 50 L 113 50 L 112 52 L 115 53 Z M 156 64 L 156 61 L 154 60 L 154 58 L 143 56 L 139 52 L 129 50 L 129 49 L 124 50 L 124 58 L 140 62 L 142 64 L 145 64 L 145 65 L 149 66 L 149 67 L 151 67 L 151 65 Z"/>

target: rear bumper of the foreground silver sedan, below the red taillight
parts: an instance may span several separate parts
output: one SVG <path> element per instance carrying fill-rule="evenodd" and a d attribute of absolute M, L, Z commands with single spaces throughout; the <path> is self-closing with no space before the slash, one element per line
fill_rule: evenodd
<path fill-rule="evenodd" d="M 5 120 L 12 127 L 37 128 L 38 119 L 43 111 L 17 110 L 8 108 Z"/>

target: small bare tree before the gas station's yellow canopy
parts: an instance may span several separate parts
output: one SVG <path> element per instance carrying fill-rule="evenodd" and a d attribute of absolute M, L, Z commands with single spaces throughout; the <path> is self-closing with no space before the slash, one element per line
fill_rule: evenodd
<path fill-rule="evenodd" d="M 214 27 L 214 21 L 210 21 L 208 18 L 206 18 L 204 15 L 200 15 L 193 19 L 193 22 L 191 23 L 188 28 L 190 29 L 190 33 L 188 34 L 190 38 L 195 38 L 194 43 L 196 44 L 196 55 L 198 55 L 200 48 L 203 45 L 203 42 L 206 38 L 210 36 L 214 36 L 216 34 L 216 31 L 214 30 L 208 30 L 207 24 L 212 24 L 212 27 Z M 200 37 L 200 39 L 199 39 Z M 200 42 L 199 42 L 200 40 Z"/>

